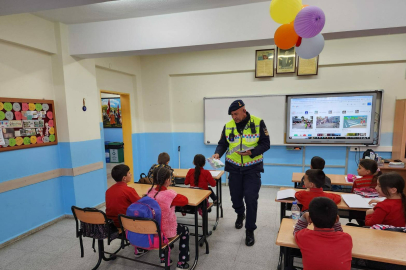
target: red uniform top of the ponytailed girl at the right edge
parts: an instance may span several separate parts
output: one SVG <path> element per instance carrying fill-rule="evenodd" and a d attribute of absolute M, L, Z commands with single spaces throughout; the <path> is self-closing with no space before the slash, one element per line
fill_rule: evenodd
<path fill-rule="evenodd" d="M 374 207 L 374 213 L 365 217 L 365 225 L 375 224 L 405 227 L 406 220 L 403 211 L 402 199 L 386 199 Z"/>

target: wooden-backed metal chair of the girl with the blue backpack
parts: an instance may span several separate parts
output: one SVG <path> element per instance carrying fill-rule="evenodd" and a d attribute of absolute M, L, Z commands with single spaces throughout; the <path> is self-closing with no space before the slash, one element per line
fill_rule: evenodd
<path fill-rule="evenodd" d="M 169 246 L 172 245 L 175 241 L 177 241 L 179 239 L 179 235 L 168 239 L 169 240 L 168 243 L 163 243 L 161 229 L 159 228 L 158 222 L 156 222 L 154 219 L 129 217 L 129 216 L 125 216 L 125 215 L 119 215 L 118 219 L 120 221 L 121 229 L 123 232 L 130 231 L 130 232 L 139 233 L 139 234 L 157 234 L 158 238 L 159 238 L 159 248 L 157 248 L 156 250 L 159 250 L 159 254 L 161 254 L 161 252 L 164 252 L 165 266 L 161 266 L 160 264 L 152 264 L 152 263 L 148 263 L 145 261 L 140 261 L 140 260 L 136 260 L 133 258 L 128 258 L 128 257 L 120 256 L 120 255 L 116 255 L 117 257 L 139 262 L 139 263 L 157 266 L 160 268 L 164 268 L 165 270 L 170 269 Z M 122 237 L 121 237 L 121 247 L 122 248 L 124 248 L 124 246 L 125 246 L 125 241 L 126 241 L 126 234 L 123 233 Z"/>

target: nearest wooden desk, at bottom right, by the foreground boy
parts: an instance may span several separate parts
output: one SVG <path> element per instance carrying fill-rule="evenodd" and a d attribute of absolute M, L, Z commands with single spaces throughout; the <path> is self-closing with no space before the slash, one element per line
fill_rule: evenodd
<path fill-rule="evenodd" d="M 353 258 L 406 265 L 406 233 L 379 231 L 345 225 L 342 225 L 342 227 L 344 232 L 352 237 Z M 309 228 L 312 229 L 310 226 Z M 284 218 L 282 220 L 276 244 L 281 247 L 299 248 L 293 237 L 292 219 Z M 384 248 L 383 244 L 385 244 Z M 293 260 L 293 258 L 291 259 Z"/>

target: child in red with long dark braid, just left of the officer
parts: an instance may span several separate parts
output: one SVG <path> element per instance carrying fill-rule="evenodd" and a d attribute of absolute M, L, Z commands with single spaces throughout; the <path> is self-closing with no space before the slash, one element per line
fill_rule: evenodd
<path fill-rule="evenodd" d="M 210 198 L 214 203 L 217 202 L 217 196 L 214 194 L 213 189 L 209 187 L 216 186 L 216 180 L 211 176 L 210 171 L 203 169 L 206 164 L 206 158 L 203 155 L 196 155 L 193 159 L 193 164 L 195 165 L 194 169 L 190 169 L 187 172 L 185 185 L 190 185 L 191 187 L 200 187 L 205 190 L 210 190 Z"/>

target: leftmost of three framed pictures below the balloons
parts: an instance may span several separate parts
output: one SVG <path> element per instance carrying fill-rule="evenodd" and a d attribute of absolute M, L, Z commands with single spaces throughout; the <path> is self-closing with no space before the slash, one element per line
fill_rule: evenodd
<path fill-rule="evenodd" d="M 255 78 L 274 77 L 275 49 L 255 51 Z"/>

